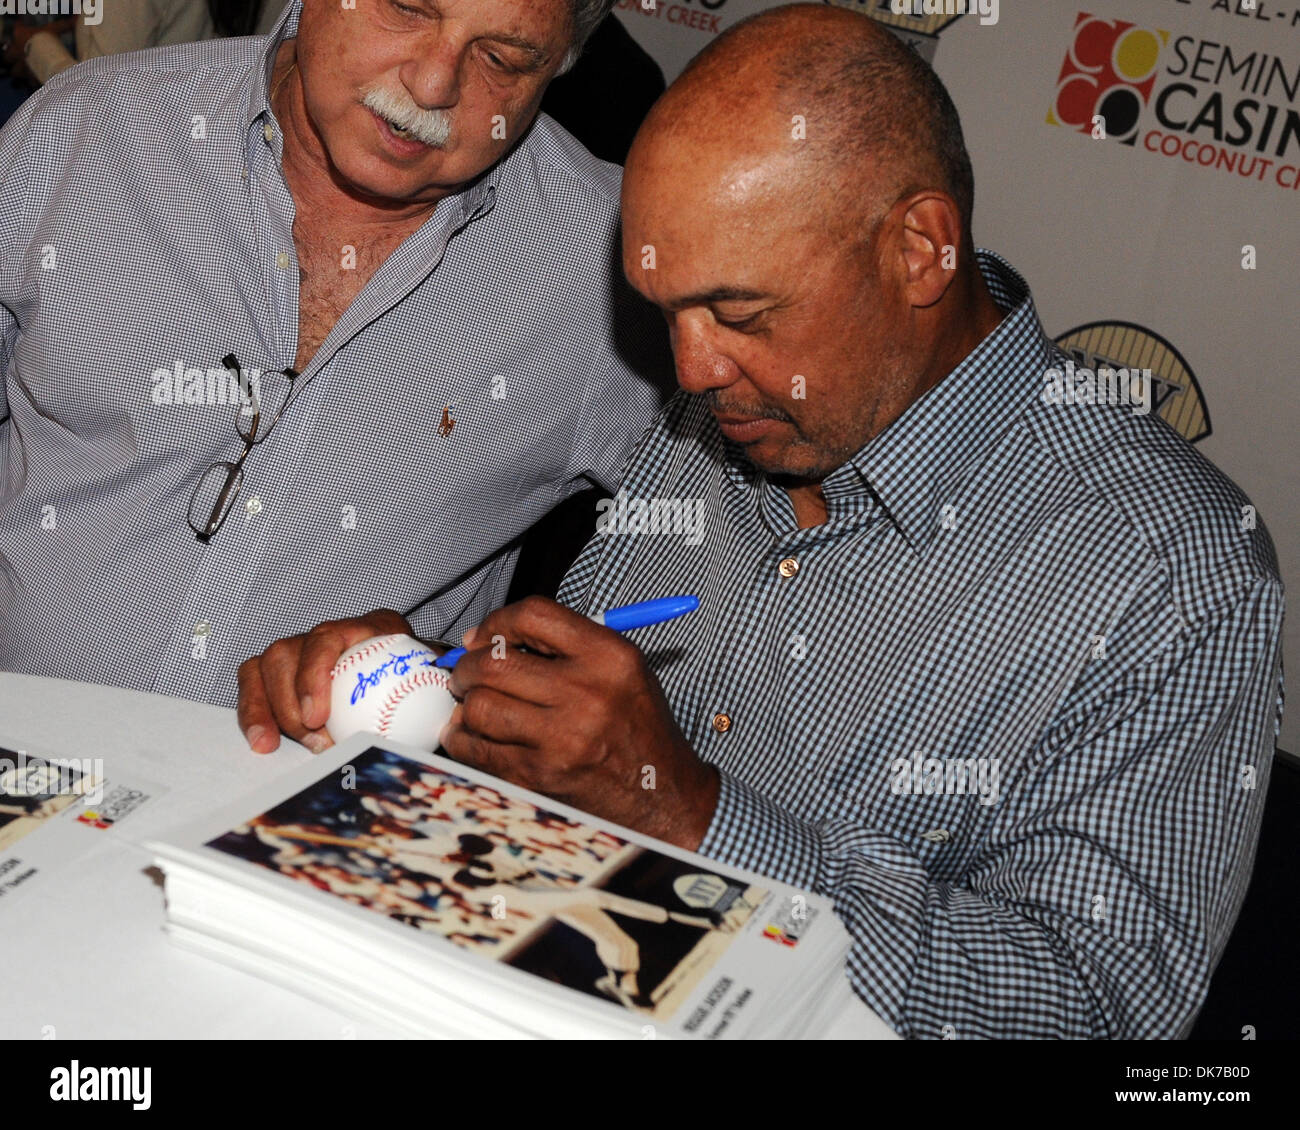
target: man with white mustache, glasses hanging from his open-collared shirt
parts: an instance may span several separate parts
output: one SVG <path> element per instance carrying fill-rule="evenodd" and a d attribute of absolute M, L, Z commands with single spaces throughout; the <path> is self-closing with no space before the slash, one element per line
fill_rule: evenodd
<path fill-rule="evenodd" d="M 358 607 L 459 635 L 667 377 L 619 170 L 537 111 L 610 0 L 304 0 L 0 133 L 0 670 L 233 705 Z M 667 384 L 667 381 L 663 381 Z"/>

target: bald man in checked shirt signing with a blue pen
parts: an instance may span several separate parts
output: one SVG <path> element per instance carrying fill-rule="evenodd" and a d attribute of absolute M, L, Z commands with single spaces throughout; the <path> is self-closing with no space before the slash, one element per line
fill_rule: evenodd
<path fill-rule="evenodd" d="M 703 538 L 620 519 L 560 605 L 490 615 L 442 742 L 831 896 L 906 1036 L 1178 1036 L 1258 832 L 1274 551 L 1144 406 L 1044 395 L 1066 358 L 971 205 L 870 20 L 774 9 L 693 62 L 623 185 L 681 390 L 620 514 L 702 499 Z M 580 615 L 670 593 L 701 610 L 634 644 Z"/>

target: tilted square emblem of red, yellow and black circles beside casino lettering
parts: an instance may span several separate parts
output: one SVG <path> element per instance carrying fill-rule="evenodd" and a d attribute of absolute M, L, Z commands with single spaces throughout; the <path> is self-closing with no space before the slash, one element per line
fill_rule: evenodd
<path fill-rule="evenodd" d="M 1138 124 L 1150 101 L 1156 69 L 1167 44 L 1167 31 L 1080 12 L 1048 124 L 1091 135 L 1093 120 L 1101 118 L 1108 138 L 1136 144 Z"/>

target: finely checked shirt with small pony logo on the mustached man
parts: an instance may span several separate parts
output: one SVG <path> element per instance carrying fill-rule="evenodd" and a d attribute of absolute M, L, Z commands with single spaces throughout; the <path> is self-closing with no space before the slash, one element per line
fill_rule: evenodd
<path fill-rule="evenodd" d="M 199 544 L 190 497 L 243 450 L 237 408 L 160 406 L 151 374 L 294 363 L 266 95 L 300 9 L 269 38 L 84 62 L 0 133 L 0 670 L 233 705 L 243 659 L 325 619 L 394 607 L 459 636 L 503 602 L 516 538 L 612 489 L 662 403 L 620 170 L 543 116 L 378 268 Z"/>

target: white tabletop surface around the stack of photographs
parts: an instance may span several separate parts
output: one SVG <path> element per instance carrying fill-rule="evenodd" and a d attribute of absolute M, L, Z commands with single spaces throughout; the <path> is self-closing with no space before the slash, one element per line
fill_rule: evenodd
<path fill-rule="evenodd" d="M 0 905 L 0 1038 L 391 1038 L 342 1012 L 173 947 L 139 843 L 237 800 L 312 754 L 259 757 L 233 710 L 134 690 L 0 674 L 0 745 L 101 757 L 107 775 L 166 789 L 96 847 Z M 896 1039 L 845 982 L 836 1039 Z"/>

